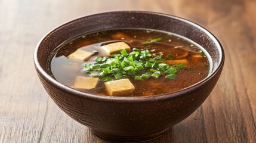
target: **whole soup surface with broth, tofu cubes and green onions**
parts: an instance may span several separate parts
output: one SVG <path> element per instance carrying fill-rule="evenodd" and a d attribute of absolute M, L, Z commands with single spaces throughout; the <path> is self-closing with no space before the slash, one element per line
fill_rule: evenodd
<path fill-rule="evenodd" d="M 174 33 L 114 29 L 58 46 L 48 69 L 60 83 L 95 95 L 138 97 L 187 88 L 208 76 L 209 54 Z"/>

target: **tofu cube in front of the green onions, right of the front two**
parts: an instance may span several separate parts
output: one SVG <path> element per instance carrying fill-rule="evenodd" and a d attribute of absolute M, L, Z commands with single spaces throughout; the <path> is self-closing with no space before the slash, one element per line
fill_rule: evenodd
<path fill-rule="evenodd" d="M 134 91 L 135 87 L 129 79 L 119 79 L 110 82 L 105 82 L 105 88 L 110 96 L 128 94 Z"/>

